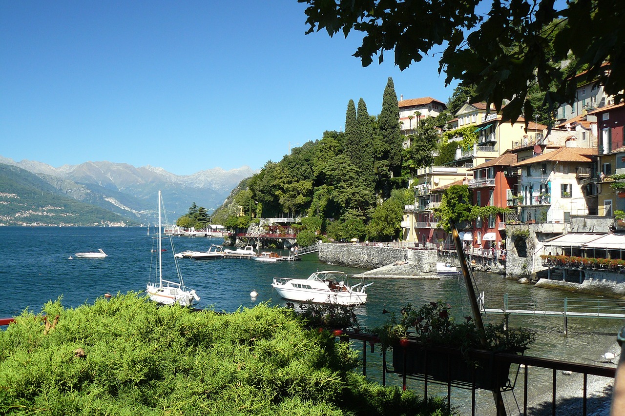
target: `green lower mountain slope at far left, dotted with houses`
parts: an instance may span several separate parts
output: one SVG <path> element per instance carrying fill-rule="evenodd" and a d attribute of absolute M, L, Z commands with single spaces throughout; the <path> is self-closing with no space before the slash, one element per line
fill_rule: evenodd
<path fill-rule="evenodd" d="M 41 177 L 0 164 L 0 224 L 134 225 L 110 210 L 63 195 Z"/>

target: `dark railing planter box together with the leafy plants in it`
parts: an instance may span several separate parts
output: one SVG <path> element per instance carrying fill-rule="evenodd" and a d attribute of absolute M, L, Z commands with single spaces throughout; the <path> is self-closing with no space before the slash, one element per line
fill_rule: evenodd
<path fill-rule="evenodd" d="M 504 387 L 510 364 L 469 359 L 470 350 L 520 354 L 534 340 L 529 329 L 505 329 L 504 320 L 478 329 L 471 317 L 456 322 L 445 302 L 431 302 L 414 309 L 406 305 L 399 317 L 373 330 L 383 349 L 392 349 L 394 372 L 427 375 L 439 382 L 456 382 L 478 389 Z"/>

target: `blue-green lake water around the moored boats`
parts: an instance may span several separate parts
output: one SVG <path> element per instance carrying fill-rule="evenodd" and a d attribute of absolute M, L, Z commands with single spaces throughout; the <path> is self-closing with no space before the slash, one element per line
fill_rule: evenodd
<path fill-rule="evenodd" d="M 154 234 L 154 229 L 151 234 Z M 180 252 L 207 250 L 211 243 L 221 244 L 222 239 L 174 237 L 173 241 L 175 252 Z M 158 240 L 153 239 L 153 235 L 147 235 L 146 228 L 140 227 L 0 227 L 0 279 L 4 284 L 0 317 L 20 314 L 26 308 L 39 312 L 45 302 L 61 296 L 66 307 L 73 307 L 92 303 L 106 292 L 116 294 L 144 290 L 149 277 L 154 275 L 154 270 L 152 274 L 150 270 L 153 255 L 150 250 L 156 242 Z M 163 253 L 165 274 L 166 267 L 171 270 L 173 250 L 168 245 L 169 240 L 165 239 L 163 243 L 167 249 Z M 103 249 L 108 257 L 68 259 L 76 252 L 98 249 Z M 199 307 L 226 312 L 239 307 L 253 307 L 259 302 L 284 305 L 284 301 L 272 292 L 271 282 L 275 276 L 307 277 L 315 270 L 343 270 L 350 274 L 363 271 L 322 264 L 316 254 L 305 255 L 296 262 L 181 259 L 179 265 L 186 285 L 195 289 L 201 297 Z M 501 307 L 506 292 L 535 299 L 576 297 L 569 292 L 517 284 L 499 275 L 476 274 L 475 277 L 478 290 L 486 290 L 487 307 Z M 252 290 L 259 294 L 256 299 L 249 296 Z M 382 309 L 399 310 L 407 303 L 420 305 L 437 299 L 446 299 L 459 316 L 471 314 L 464 284 L 455 278 L 376 280 L 367 292 L 370 301 L 357 308 L 364 327 L 383 324 L 387 315 L 382 315 Z M 570 335 L 566 338 L 562 335 L 561 319 L 516 317 L 511 318 L 510 325 L 537 330 L 538 340 L 532 345 L 529 355 L 598 364 L 601 355 L 614 343 L 614 334 L 622 322 L 569 319 Z M 375 365 L 379 362 L 379 354 L 368 354 L 367 362 Z M 376 375 L 375 369 L 367 371 L 367 375 Z M 391 384 L 397 382 L 393 377 L 388 380 Z M 486 403 L 492 402 L 489 392 L 480 396 L 484 396 L 482 399 Z"/>

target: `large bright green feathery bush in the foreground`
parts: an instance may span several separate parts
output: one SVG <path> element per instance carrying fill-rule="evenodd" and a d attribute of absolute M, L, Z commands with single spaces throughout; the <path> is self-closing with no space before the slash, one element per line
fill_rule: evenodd
<path fill-rule="evenodd" d="M 42 415 L 448 414 L 351 372 L 357 356 L 292 310 L 157 307 L 136 294 L 0 331 L 0 413 Z"/>

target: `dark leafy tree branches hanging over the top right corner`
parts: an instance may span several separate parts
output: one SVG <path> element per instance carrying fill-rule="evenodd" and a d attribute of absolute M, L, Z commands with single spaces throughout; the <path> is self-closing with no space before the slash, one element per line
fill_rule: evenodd
<path fill-rule="evenodd" d="M 476 11 L 481 0 L 298 1 L 308 4 L 307 33 L 363 32 L 354 53 L 363 66 L 394 50 L 403 70 L 446 45 L 439 61 L 446 84 L 475 85 L 477 97 L 497 111 L 509 101 L 504 121 L 521 113 L 532 118 L 536 104 L 528 92 L 534 86 L 546 91 L 549 107 L 571 102 L 581 82 L 599 82 L 616 101 L 625 97 L 622 0 L 492 0 L 486 16 Z"/>

